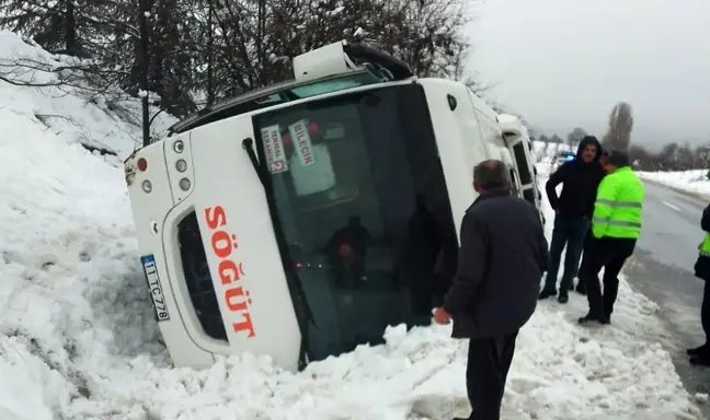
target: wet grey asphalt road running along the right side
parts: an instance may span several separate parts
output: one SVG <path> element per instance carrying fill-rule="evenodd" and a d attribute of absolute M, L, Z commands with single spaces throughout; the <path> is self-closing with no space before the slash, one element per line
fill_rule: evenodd
<path fill-rule="evenodd" d="M 686 389 L 710 393 L 710 369 L 690 366 L 685 354 L 705 340 L 700 326 L 705 282 L 695 278 L 692 266 L 703 235 L 700 217 L 708 203 L 659 184 L 646 182 L 645 187 L 643 230 L 625 273 L 633 289 L 659 304 L 672 337 L 664 346 Z M 701 408 L 710 419 L 710 407 Z"/>

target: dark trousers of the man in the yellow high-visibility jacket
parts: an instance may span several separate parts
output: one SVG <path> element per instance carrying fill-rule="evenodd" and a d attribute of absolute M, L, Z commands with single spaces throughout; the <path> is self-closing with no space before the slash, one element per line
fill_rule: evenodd
<path fill-rule="evenodd" d="M 603 237 L 595 240 L 588 249 L 589 260 L 580 276 L 584 279 L 589 302 L 589 314 L 606 315 L 614 312 L 614 303 L 619 293 L 619 272 L 627 258 L 633 254 L 635 240 Z M 599 284 L 599 271 L 604 268 L 604 294 Z"/>

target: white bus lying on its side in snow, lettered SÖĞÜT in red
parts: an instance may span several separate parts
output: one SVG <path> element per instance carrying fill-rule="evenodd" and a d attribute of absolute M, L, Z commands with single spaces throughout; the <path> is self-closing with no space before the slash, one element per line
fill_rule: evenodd
<path fill-rule="evenodd" d="M 483 160 L 504 161 L 538 206 L 527 137 L 503 136 L 466 85 L 344 42 L 296 57 L 294 71 L 125 162 L 176 366 L 252 352 L 297 370 L 428 319 Z"/>

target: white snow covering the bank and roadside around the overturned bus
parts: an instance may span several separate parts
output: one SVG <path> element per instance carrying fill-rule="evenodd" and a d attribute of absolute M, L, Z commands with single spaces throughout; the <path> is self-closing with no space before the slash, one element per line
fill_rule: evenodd
<path fill-rule="evenodd" d="M 47 58 L 0 33 L 0 58 L 14 54 Z M 0 419 L 444 420 L 468 412 L 467 345 L 449 338 L 450 327 L 394 327 L 383 346 L 298 374 L 252 355 L 205 371 L 171 368 L 123 171 L 77 144 L 88 136 L 123 156 L 139 130 L 101 101 L 58 93 L 0 81 Z M 47 127 L 38 113 L 78 126 Z M 657 343 L 655 304 L 622 282 L 611 326 L 577 326 L 584 308 L 574 294 L 566 306 L 539 305 L 518 338 L 504 419 L 700 418 Z"/>

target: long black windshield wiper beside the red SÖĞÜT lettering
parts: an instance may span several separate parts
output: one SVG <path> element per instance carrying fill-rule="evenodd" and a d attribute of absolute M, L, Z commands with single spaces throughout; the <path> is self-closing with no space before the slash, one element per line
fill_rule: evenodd
<path fill-rule="evenodd" d="M 268 206 L 268 212 L 272 219 L 272 225 L 274 226 L 274 235 L 276 236 L 276 245 L 278 246 L 278 253 L 282 257 L 282 264 L 284 266 L 284 272 L 287 278 L 290 278 L 291 281 L 287 281 L 288 289 L 291 292 L 291 299 L 294 294 L 296 295 L 296 320 L 298 322 L 298 327 L 301 331 L 301 347 L 298 355 L 298 369 L 302 370 L 306 364 L 308 364 L 308 324 L 311 323 L 316 326 L 316 319 L 313 318 L 313 313 L 308 304 L 306 299 L 306 292 L 304 291 L 304 283 L 301 282 L 298 273 L 296 272 L 296 265 L 291 259 L 290 253 L 288 252 L 288 245 L 286 244 L 286 236 L 282 230 L 280 221 L 278 219 L 278 213 L 276 212 L 276 200 L 274 195 L 271 192 L 271 178 L 266 172 L 266 166 L 259 163 L 256 159 L 256 151 L 254 150 L 254 140 L 251 138 L 245 138 L 242 140 L 242 148 L 247 151 L 249 160 L 259 176 L 259 180 L 262 183 L 264 188 L 264 195 L 266 196 L 266 203 Z M 293 290 L 295 288 L 295 290 Z M 295 292 L 295 293 L 294 293 Z"/>

